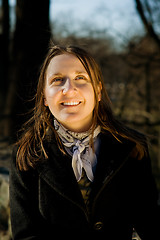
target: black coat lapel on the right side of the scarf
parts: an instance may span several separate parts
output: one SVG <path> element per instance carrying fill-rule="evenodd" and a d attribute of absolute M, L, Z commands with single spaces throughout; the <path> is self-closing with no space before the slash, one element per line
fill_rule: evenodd
<path fill-rule="evenodd" d="M 90 196 L 92 199 L 101 191 L 108 179 L 123 166 L 134 146 L 135 143 L 126 139 L 119 142 L 109 132 L 100 135 L 98 163 Z"/>

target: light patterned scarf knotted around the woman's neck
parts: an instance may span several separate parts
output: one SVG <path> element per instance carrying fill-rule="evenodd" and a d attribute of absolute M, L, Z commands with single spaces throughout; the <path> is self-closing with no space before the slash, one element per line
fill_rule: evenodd
<path fill-rule="evenodd" d="M 77 181 L 80 181 L 82 168 L 84 168 L 88 179 L 93 182 L 93 168 L 97 164 L 97 158 L 89 145 L 92 137 L 91 130 L 83 133 L 72 132 L 62 126 L 56 119 L 54 120 L 54 127 L 61 138 L 66 151 L 72 156 L 72 168 Z M 96 139 L 100 131 L 101 128 L 98 126 L 93 133 L 95 148 Z"/>

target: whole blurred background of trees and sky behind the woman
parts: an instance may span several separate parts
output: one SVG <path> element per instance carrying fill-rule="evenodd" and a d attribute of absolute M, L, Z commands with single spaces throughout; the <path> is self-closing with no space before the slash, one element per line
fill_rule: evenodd
<path fill-rule="evenodd" d="M 50 41 L 96 58 L 117 118 L 150 138 L 160 191 L 160 0 L 0 0 L 1 240 L 10 239 L 12 144 L 34 106 Z"/>

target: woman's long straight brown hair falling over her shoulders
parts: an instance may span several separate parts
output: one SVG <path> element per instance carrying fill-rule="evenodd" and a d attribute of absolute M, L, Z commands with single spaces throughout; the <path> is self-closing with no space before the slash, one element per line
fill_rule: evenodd
<path fill-rule="evenodd" d="M 95 93 L 95 109 L 93 114 L 92 131 L 98 124 L 101 126 L 102 131 L 109 131 L 117 141 L 123 137 L 136 143 L 140 155 L 145 152 L 145 138 L 142 135 L 133 133 L 128 127 L 124 126 L 121 122 L 115 119 L 111 102 L 108 97 L 101 70 L 94 60 L 94 58 L 84 49 L 75 46 L 51 46 L 48 54 L 41 67 L 39 81 L 37 85 L 37 93 L 35 96 L 35 107 L 33 115 L 27 123 L 23 126 L 23 134 L 19 138 L 17 145 L 17 166 L 20 170 L 28 170 L 29 167 L 35 167 L 37 162 L 43 158 L 47 158 L 47 153 L 44 147 L 44 139 L 48 129 L 52 129 L 58 141 L 59 148 L 63 151 L 62 144 L 53 127 L 53 116 L 44 105 L 44 86 L 46 79 L 46 71 L 52 58 L 61 54 L 72 54 L 76 56 L 84 68 L 86 69 Z M 101 101 L 98 101 L 98 85 L 101 84 Z"/>

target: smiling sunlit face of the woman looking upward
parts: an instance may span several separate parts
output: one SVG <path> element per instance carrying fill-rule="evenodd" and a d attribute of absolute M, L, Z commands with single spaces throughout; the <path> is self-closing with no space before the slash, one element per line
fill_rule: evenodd
<path fill-rule="evenodd" d="M 87 131 L 92 125 L 95 95 L 91 79 L 72 54 L 55 56 L 46 71 L 44 104 L 64 127 Z"/>

